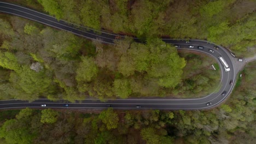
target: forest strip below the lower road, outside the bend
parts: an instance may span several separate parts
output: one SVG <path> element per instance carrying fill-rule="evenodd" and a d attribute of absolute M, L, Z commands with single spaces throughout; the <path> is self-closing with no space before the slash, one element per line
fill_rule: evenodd
<path fill-rule="evenodd" d="M 255 62 L 208 111 L 2 110 L 1 143 L 255 143 Z"/>

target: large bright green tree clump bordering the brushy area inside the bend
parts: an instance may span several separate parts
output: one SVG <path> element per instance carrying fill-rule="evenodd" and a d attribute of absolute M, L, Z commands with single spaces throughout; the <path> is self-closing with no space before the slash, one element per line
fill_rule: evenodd
<path fill-rule="evenodd" d="M 150 77 L 159 79 L 159 85 L 175 87 L 181 81 L 182 69 L 185 67 L 184 58 L 179 57 L 177 50 L 160 39 L 149 39 Z"/>

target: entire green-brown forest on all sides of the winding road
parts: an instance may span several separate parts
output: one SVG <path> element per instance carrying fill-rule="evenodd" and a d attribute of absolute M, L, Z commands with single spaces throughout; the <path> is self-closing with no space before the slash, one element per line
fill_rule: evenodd
<path fill-rule="evenodd" d="M 1 13 L 1 100 L 201 97 L 218 89 L 216 61 L 161 37 L 206 39 L 238 56 L 256 52 L 253 0 L 4 1 L 147 43 L 126 37 L 105 45 Z M 0 143 L 255 143 L 255 64 L 213 110 L 1 110 Z"/>

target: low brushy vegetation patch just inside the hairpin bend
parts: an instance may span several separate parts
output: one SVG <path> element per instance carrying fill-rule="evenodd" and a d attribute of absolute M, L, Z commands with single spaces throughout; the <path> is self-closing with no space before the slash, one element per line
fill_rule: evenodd
<path fill-rule="evenodd" d="M 212 64 L 217 63 L 216 59 L 203 53 L 191 51 L 179 51 L 179 55 L 186 61 L 182 82 L 179 83 L 169 97 L 175 98 L 199 98 L 214 91 L 218 92 L 220 85 L 220 70 L 218 64 L 212 68 Z"/>

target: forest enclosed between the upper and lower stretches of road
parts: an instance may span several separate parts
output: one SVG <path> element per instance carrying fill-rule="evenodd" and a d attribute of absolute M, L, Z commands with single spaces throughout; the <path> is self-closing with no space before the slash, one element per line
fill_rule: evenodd
<path fill-rule="evenodd" d="M 158 38 L 103 45 L 16 16 L 0 21 L 1 99 L 193 98 L 218 88 L 213 58 L 178 55 Z"/>

